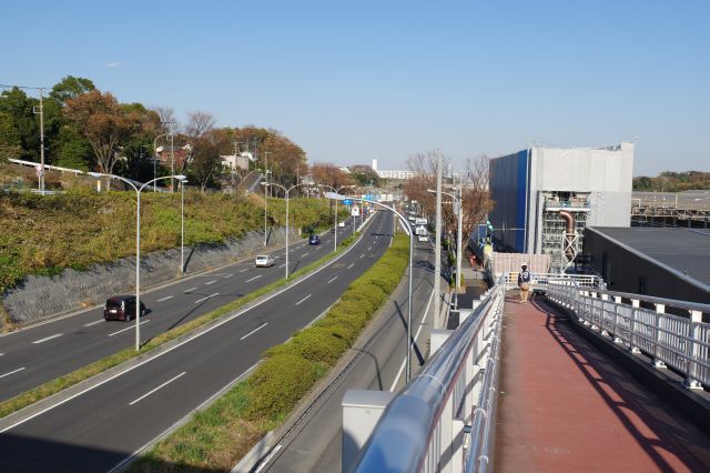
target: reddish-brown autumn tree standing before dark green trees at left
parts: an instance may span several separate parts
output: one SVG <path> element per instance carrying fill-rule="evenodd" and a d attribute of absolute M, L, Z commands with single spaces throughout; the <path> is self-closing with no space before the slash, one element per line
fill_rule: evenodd
<path fill-rule="evenodd" d="M 99 170 L 112 174 L 119 159 L 119 145 L 133 129 L 118 100 L 110 92 L 92 90 L 68 99 L 64 115 L 91 145 Z"/>

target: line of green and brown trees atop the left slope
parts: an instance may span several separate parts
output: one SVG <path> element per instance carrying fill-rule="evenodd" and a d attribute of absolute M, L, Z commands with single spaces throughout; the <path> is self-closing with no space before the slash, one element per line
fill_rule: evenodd
<path fill-rule="evenodd" d="M 234 183 L 251 170 L 263 170 L 266 162 L 272 179 L 283 185 L 308 172 L 305 151 L 273 129 L 219 128 L 215 117 L 205 111 L 189 112 L 179 122 L 172 108 L 122 103 L 91 80 L 72 76 L 45 93 L 47 164 L 141 182 L 169 175 L 172 169 L 203 191 Z M 39 109 L 40 100 L 22 88 L 0 93 L 0 161 L 40 162 Z M 221 155 L 243 152 L 251 157 L 247 170 L 232 173 L 222 165 Z"/>

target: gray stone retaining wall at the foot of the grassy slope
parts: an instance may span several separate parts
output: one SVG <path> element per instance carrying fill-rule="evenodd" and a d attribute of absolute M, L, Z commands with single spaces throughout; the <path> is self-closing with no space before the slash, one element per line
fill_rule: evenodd
<path fill-rule="evenodd" d="M 285 243 L 285 229 L 273 229 L 268 245 Z M 292 229 L 292 241 L 298 240 Z M 264 248 L 264 232 L 248 232 L 224 244 L 185 246 L 185 274 L 215 268 L 257 253 Z M 150 288 L 180 278 L 180 248 L 141 255 L 141 288 Z M 64 270 L 54 276 L 28 276 L 8 290 L 2 305 L 14 323 L 26 324 L 83 306 L 101 304 L 108 296 L 135 290 L 135 258 L 109 264 L 95 264 L 88 271 Z M 0 328 L 2 320 L 0 319 Z"/>

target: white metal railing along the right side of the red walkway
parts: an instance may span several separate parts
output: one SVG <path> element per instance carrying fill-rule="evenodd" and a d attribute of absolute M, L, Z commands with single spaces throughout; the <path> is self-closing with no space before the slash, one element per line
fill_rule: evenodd
<path fill-rule="evenodd" d="M 555 283 L 546 294 L 588 329 L 681 373 L 686 386 L 710 385 L 710 305 Z"/>

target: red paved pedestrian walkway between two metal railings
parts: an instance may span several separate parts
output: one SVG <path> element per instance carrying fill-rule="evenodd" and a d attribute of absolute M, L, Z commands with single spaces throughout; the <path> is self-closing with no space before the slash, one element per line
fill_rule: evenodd
<path fill-rule="evenodd" d="M 505 305 L 496 472 L 710 471 L 710 437 L 544 300 Z"/>

